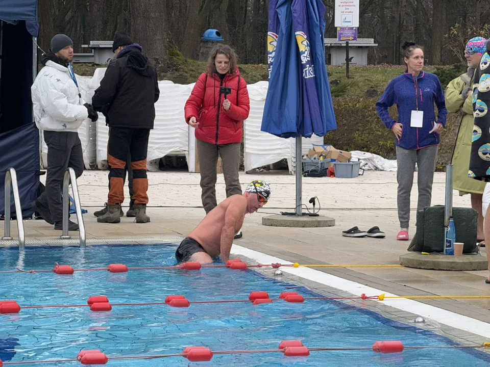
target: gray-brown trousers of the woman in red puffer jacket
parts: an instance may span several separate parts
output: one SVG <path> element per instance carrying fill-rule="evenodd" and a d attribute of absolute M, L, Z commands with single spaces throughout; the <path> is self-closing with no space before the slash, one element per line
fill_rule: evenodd
<path fill-rule="evenodd" d="M 216 164 L 218 154 L 223 163 L 226 197 L 241 194 L 238 169 L 240 167 L 240 143 L 216 145 L 196 139 L 201 172 L 201 200 L 206 214 L 212 211 L 216 203 Z"/>

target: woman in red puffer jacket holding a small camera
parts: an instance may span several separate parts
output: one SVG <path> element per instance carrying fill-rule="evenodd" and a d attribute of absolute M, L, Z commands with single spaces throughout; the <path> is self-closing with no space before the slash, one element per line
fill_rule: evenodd
<path fill-rule="evenodd" d="M 223 162 L 226 196 L 241 194 L 240 143 L 249 110 L 247 83 L 238 71 L 235 51 L 219 44 L 211 50 L 208 71 L 199 76 L 184 108 L 185 121 L 195 127 L 206 214 L 216 206 L 218 154 Z"/>

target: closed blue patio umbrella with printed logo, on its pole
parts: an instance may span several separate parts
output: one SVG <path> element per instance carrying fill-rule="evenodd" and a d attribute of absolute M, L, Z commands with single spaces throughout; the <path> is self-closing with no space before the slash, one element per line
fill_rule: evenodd
<path fill-rule="evenodd" d="M 301 137 L 337 128 L 325 63 L 325 10 L 321 0 L 269 3 L 269 88 L 261 130 L 296 138 L 297 215 L 302 215 Z"/>

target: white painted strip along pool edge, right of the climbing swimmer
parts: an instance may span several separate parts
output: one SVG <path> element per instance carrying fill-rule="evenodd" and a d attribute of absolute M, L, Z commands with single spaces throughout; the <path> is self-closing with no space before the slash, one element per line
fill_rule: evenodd
<path fill-rule="evenodd" d="M 290 263 L 290 261 L 286 261 L 275 256 L 266 255 L 262 252 L 250 250 L 248 248 L 238 246 L 235 244 L 233 244 L 231 253 L 234 255 L 246 256 L 248 258 L 255 260 L 259 264 L 272 264 L 272 263 L 280 263 L 284 265 L 292 264 Z M 322 283 L 330 287 L 345 292 L 349 292 L 359 297 L 362 294 L 365 294 L 366 296 L 377 296 L 382 293 L 384 293 L 385 296 L 400 296 L 397 294 L 385 292 L 383 290 L 378 290 L 366 285 L 356 283 L 351 280 L 343 279 L 311 268 L 284 267 L 281 268 L 281 270 L 284 273 L 293 274 L 302 277 L 304 279 Z M 398 299 L 388 298 L 385 299 L 384 301 L 377 301 L 377 300 L 374 301 L 383 303 L 387 306 L 398 308 L 403 311 L 418 314 L 422 317 L 432 319 L 441 324 L 445 324 L 456 329 L 464 330 L 476 335 L 490 338 L 490 324 L 480 320 L 469 318 L 467 316 L 463 316 L 455 312 L 447 311 L 439 307 L 427 305 L 425 303 L 421 303 L 407 298 L 398 298 Z M 463 311 L 464 309 L 462 308 L 461 310 Z"/>

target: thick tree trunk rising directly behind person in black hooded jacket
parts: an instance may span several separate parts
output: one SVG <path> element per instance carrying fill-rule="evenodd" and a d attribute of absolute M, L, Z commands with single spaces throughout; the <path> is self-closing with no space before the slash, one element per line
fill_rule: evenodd
<path fill-rule="evenodd" d="M 131 37 L 143 47 L 143 53 L 159 65 L 166 57 L 165 2 L 130 0 Z"/>

